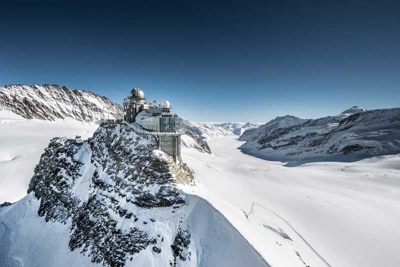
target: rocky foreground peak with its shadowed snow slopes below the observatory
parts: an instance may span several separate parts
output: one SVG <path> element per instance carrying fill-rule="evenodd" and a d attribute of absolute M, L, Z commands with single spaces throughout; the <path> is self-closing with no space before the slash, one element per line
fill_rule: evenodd
<path fill-rule="evenodd" d="M 269 266 L 155 148 L 123 124 L 52 139 L 28 195 L 0 208 L 0 265 Z"/>

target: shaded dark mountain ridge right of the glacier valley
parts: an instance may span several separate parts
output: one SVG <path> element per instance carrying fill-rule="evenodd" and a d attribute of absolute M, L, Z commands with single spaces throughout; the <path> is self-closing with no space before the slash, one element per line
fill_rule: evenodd
<path fill-rule="evenodd" d="M 351 112 L 352 109 L 355 110 Z M 240 149 L 265 159 L 290 161 L 289 164 L 354 161 L 400 152 L 400 108 L 352 109 L 264 135 L 253 134 Z"/>

